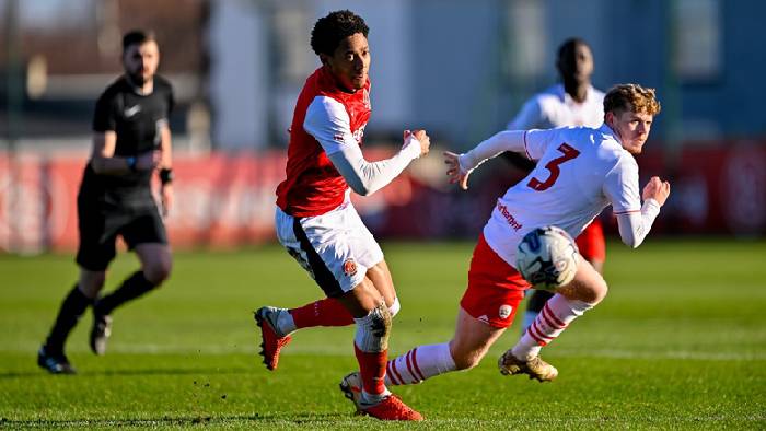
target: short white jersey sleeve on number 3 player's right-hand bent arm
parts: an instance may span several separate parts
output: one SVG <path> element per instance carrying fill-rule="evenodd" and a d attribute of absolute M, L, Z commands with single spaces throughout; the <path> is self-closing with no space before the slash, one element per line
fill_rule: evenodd
<path fill-rule="evenodd" d="M 641 197 L 638 191 L 638 164 L 623 154 L 604 180 L 604 194 L 612 202 L 616 215 L 641 211 Z"/>

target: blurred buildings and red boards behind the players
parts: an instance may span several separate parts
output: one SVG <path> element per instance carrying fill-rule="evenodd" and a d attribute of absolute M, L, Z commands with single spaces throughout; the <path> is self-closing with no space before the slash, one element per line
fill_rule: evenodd
<path fill-rule="evenodd" d="M 294 101 L 318 66 L 318 16 L 349 8 L 371 27 L 371 159 L 405 128 L 465 150 L 557 81 L 556 47 L 580 36 L 594 85 L 658 89 L 663 110 L 643 183 L 669 177 L 658 232 L 766 232 L 766 33 L 756 0 L 0 0 L 0 251 L 71 251 L 93 105 L 120 72 L 120 36 L 153 30 L 174 84 L 176 247 L 272 241 Z M 357 199 L 382 237 L 473 237 L 520 173 L 500 162 L 473 193 L 445 187 L 436 150 Z M 608 213 L 608 211 L 607 211 Z M 607 226 L 611 217 L 603 215 Z"/>

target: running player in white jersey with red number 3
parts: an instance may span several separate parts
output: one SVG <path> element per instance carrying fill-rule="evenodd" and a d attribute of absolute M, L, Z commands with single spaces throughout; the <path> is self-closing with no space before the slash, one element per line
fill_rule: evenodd
<path fill-rule="evenodd" d="M 463 189 L 476 167 L 503 151 L 524 154 L 537 165 L 498 199 L 479 235 L 452 340 L 419 346 L 388 361 L 386 384 L 420 383 L 479 363 L 511 325 L 530 288 L 513 265 L 517 245 L 535 228 L 557 225 L 576 236 L 612 205 L 623 242 L 632 248 L 643 242 L 670 194 L 670 184 L 659 177 L 650 178 L 639 194 L 634 159 L 641 152 L 660 104 L 653 89 L 622 84 L 606 94 L 604 112 L 599 128 L 506 130 L 465 154 L 444 153 L 450 182 Z M 556 289 L 519 342 L 501 356 L 500 372 L 527 374 L 541 382 L 555 378 L 558 371 L 541 359 L 542 347 L 599 304 L 606 290 L 593 266 L 579 259 L 574 279 Z M 344 377 L 340 388 L 358 405 L 358 373 Z"/>

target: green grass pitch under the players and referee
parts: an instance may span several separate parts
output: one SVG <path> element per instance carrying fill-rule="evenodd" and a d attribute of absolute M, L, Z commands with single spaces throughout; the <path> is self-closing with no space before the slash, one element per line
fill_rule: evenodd
<path fill-rule="evenodd" d="M 473 244 L 385 244 L 403 310 L 391 353 L 448 340 Z M 277 372 L 259 363 L 252 311 L 320 290 L 276 246 L 179 253 L 160 291 L 115 314 L 105 357 L 68 343 L 77 376 L 37 369 L 35 351 L 72 286 L 71 256 L 0 255 L 0 428 L 764 429 L 766 243 L 650 238 L 608 245 L 604 303 L 544 352 L 552 384 L 476 369 L 396 387 L 427 418 L 353 417 L 337 383 L 356 369 L 353 328 L 300 331 Z M 121 255 L 111 290 L 135 270 Z"/>

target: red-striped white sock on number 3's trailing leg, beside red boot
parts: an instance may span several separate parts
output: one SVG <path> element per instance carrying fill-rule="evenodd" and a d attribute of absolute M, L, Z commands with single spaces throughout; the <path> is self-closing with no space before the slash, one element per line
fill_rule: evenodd
<path fill-rule="evenodd" d="M 420 383 L 434 375 L 456 369 L 450 353 L 450 345 L 418 346 L 388 361 L 385 372 L 386 385 L 408 385 Z"/>

